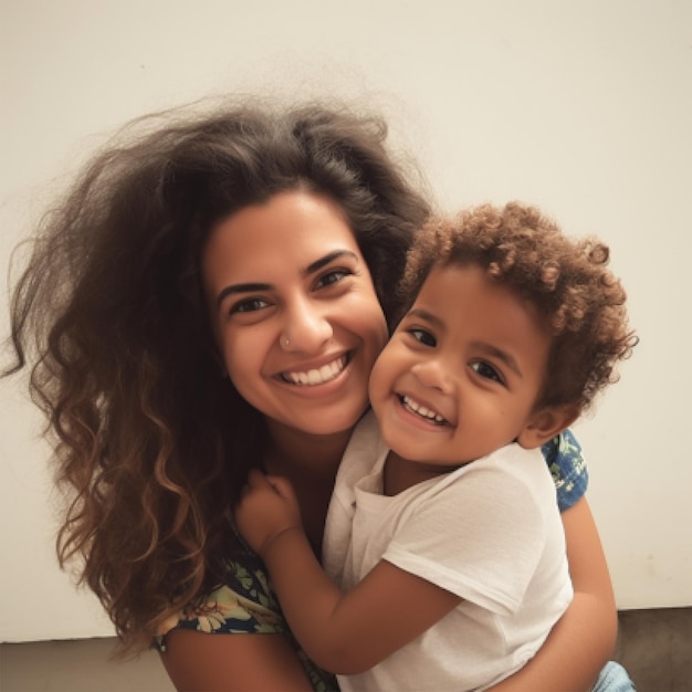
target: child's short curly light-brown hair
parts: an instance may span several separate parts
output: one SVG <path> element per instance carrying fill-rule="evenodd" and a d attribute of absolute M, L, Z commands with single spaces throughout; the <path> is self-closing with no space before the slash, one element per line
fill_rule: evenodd
<path fill-rule="evenodd" d="M 534 207 L 483 205 L 423 227 L 400 291 L 410 306 L 433 265 L 482 266 L 534 305 L 554 335 L 536 408 L 569 405 L 584 411 L 618 380 L 616 363 L 629 358 L 638 342 L 608 260 L 606 244 L 595 238 L 570 241 Z"/>

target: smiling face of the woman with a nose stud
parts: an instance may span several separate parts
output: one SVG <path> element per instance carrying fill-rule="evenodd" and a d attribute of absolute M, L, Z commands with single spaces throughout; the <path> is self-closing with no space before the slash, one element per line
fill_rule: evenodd
<path fill-rule="evenodd" d="M 202 274 L 238 391 L 280 426 L 349 430 L 367 407 L 387 325 L 338 206 L 289 191 L 241 209 L 212 229 Z"/>

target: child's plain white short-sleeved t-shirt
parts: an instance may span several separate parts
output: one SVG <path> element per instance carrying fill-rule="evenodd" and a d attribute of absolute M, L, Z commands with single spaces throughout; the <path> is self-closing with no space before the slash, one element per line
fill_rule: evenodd
<path fill-rule="evenodd" d="M 373 413 L 339 466 L 323 563 L 344 590 L 386 559 L 460 596 L 416 640 L 349 690 L 475 690 L 522 668 L 573 597 L 555 485 L 539 450 L 510 444 L 394 497 Z"/>

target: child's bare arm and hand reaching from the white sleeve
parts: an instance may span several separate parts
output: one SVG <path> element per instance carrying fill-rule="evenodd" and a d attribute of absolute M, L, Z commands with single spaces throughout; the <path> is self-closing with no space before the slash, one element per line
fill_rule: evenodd
<path fill-rule="evenodd" d="M 235 522 L 266 564 L 293 633 L 325 670 L 355 674 L 373 668 L 461 600 L 386 560 L 342 594 L 315 558 L 284 479 L 252 473 Z"/>

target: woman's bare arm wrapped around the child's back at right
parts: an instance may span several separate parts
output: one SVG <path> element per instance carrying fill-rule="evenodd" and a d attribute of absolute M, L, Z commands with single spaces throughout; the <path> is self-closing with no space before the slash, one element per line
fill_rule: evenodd
<path fill-rule="evenodd" d="M 586 497 L 563 512 L 574 600 L 536 656 L 493 692 L 591 690 L 618 631 L 615 596 Z"/>

